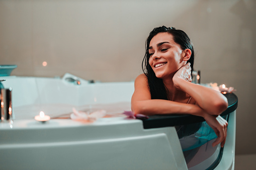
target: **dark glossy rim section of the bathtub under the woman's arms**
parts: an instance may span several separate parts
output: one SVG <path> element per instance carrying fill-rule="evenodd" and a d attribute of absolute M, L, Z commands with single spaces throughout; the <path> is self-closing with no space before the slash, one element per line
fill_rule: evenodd
<path fill-rule="evenodd" d="M 234 93 L 228 93 L 223 95 L 228 100 L 228 107 L 223 113 L 221 113 L 221 116 L 227 115 L 235 111 L 238 104 L 238 98 Z M 205 121 L 203 117 L 188 115 L 188 114 L 153 115 L 153 116 L 149 116 L 148 119 L 142 120 L 144 129 L 185 125 L 185 124 L 198 123 L 203 121 Z"/>

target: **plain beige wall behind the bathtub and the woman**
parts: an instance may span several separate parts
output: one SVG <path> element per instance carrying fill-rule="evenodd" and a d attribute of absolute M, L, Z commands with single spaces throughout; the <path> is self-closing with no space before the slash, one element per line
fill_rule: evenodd
<path fill-rule="evenodd" d="M 142 73 L 149 32 L 182 29 L 202 82 L 237 89 L 236 153 L 256 153 L 255 8 L 253 0 L 0 0 L 0 64 L 18 65 L 12 75 L 130 81 Z"/>

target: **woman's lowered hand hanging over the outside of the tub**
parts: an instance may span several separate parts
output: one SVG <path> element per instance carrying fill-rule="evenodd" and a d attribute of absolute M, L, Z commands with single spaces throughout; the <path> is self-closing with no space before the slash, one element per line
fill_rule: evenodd
<path fill-rule="evenodd" d="M 212 146 L 214 147 L 220 143 L 221 147 L 223 147 L 227 137 L 227 121 L 219 115 L 217 116 L 210 114 L 205 114 L 204 119 L 218 136 L 217 139 L 212 143 Z"/>

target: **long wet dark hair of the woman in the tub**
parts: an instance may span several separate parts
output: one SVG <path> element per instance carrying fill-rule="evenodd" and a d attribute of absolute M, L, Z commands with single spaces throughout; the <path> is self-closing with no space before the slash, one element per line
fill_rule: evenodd
<path fill-rule="evenodd" d="M 166 88 L 162 82 L 162 79 L 157 78 L 155 76 L 154 71 L 152 70 L 151 66 L 149 65 L 149 43 L 152 38 L 157 35 L 158 33 L 169 33 L 173 36 L 174 41 L 180 45 L 182 50 L 190 49 L 191 50 L 191 57 L 187 61 L 191 63 L 191 69 L 193 70 L 194 66 L 194 48 L 193 44 L 189 38 L 189 36 L 182 30 L 176 30 L 173 27 L 157 27 L 154 28 L 153 31 L 150 32 L 147 40 L 146 40 L 146 53 L 142 61 L 142 70 L 144 74 L 147 76 L 148 86 L 151 93 L 151 99 L 164 99 L 167 100 L 167 92 Z"/>

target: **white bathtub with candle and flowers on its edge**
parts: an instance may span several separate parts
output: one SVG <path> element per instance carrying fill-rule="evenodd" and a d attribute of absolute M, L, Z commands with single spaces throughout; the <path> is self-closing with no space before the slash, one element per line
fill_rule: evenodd
<path fill-rule="evenodd" d="M 68 76 L 1 77 L 13 89 L 15 119 L 0 124 L 0 169 L 188 169 L 174 126 L 144 129 L 121 114 L 130 110 L 134 82 L 75 85 Z M 108 117 L 67 119 L 72 107 L 105 109 Z M 65 119 L 41 123 L 34 120 L 40 111 Z M 233 168 L 235 113 L 229 120 L 225 157 L 215 169 Z"/>

